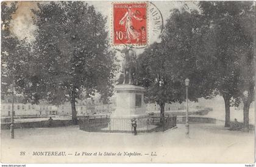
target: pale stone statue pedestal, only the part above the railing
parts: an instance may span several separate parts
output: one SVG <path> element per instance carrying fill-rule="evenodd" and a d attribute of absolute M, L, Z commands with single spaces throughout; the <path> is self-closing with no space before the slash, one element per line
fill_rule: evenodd
<path fill-rule="evenodd" d="M 129 84 L 116 85 L 116 110 L 110 118 L 143 118 L 146 114 L 146 105 L 144 104 L 143 87 Z"/>

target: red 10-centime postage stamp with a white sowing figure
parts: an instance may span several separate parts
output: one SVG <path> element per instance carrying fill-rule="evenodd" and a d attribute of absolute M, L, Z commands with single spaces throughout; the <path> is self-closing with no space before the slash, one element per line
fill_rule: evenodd
<path fill-rule="evenodd" d="M 113 3 L 113 44 L 148 43 L 147 3 Z"/>

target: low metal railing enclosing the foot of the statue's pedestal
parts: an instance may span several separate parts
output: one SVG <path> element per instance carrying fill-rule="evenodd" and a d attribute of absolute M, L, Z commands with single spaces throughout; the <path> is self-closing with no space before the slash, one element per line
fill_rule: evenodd
<path fill-rule="evenodd" d="M 164 119 L 148 117 L 135 120 L 137 133 L 160 132 L 176 127 L 176 116 L 168 116 Z M 98 118 L 90 118 L 90 116 L 80 117 L 79 129 L 87 132 L 134 132 L 131 119 L 109 118 L 108 116 Z"/>

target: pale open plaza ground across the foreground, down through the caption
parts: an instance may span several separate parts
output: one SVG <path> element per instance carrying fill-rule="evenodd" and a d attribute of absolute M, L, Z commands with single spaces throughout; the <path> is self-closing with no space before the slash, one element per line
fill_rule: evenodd
<path fill-rule="evenodd" d="M 55 128 L 15 129 L 15 139 L 9 130 L 1 130 L 2 162 L 15 157 L 17 162 L 62 162 L 62 156 L 32 156 L 34 152 L 63 151 L 65 162 L 207 162 L 250 163 L 254 162 L 254 132 L 230 131 L 223 124 L 191 124 L 190 138 L 185 138 L 185 125 L 165 132 L 97 133 L 79 130 L 78 126 Z M 20 152 L 26 152 L 21 156 Z M 75 156 L 76 152 L 130 152 L 118 158 L 115 155 Z M 149 155 L 148 155 L 149 154 Z M 151 155 L 153 154 L 153 155 Z M 154 155 L 156 154 L 156 155 Z M 141 155 L 141 156 L 142 156 Z M 166 158 L 168 157 L 168 158 Z M 28 159 L 29 158 L 29 159 Z"/>

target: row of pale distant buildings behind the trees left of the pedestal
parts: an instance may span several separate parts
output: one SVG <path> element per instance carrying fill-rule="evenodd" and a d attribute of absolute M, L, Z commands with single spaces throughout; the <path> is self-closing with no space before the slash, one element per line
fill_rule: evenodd
<path fill-rule="evenodd" d="M 40 101 L 39 104 L 24 104 L 22 96 L 15 96 L 13 108 L 15 116 L 72 115 L 70 102 L 59 106 L 44 101 Z M 108 104 L 104 104 L 99 98 L 87 98 L 76 102 L 77 115 L 110 113 L 114 110 L 113 108 L 115 107 L 111 100 Z M 12 116 L 12 96 L 1 99 L 1 116 Z"/>

